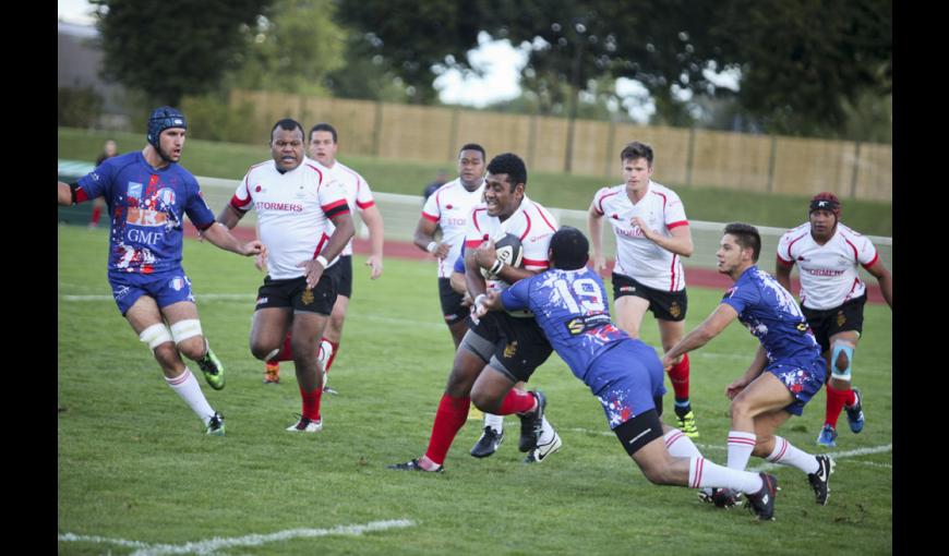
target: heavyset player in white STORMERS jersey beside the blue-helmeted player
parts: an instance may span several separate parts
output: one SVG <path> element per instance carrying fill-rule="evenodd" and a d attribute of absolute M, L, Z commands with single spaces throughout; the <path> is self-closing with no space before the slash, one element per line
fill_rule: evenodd
<path fill-rule="evenodd" d="M 248 170 L 219 220 L 233 228 L 248 210 L 257 211 L 268 257 L 251 327 L 251 352 L 262 361 L 273 359 L 287 330 L 292 330 L 303 409 L 287 431 L 316 433 L 323 430 L 317 351 L 336 302 L 335 280 L 325 270 L 336 264 L 355 228 L 345 190 L 328 179 L 326 168 L 304 158 L 299 122 L 284 119 L 274 125 L 271 153 L 273 160 Z"/>

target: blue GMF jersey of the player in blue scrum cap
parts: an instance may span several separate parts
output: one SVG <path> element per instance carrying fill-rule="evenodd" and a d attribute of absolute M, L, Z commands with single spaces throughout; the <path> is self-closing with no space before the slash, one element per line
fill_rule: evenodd
<path fill-rule="evenodd" d="M 109 207 L 110 274 L 178 268 L 184 215 L 200 230 L 214 223 L 214 213 L 191 172 L 175 162 L 156 170 L 141 152 L 106 159 L 79 185 L 88 198 L 105 197 Z"/>

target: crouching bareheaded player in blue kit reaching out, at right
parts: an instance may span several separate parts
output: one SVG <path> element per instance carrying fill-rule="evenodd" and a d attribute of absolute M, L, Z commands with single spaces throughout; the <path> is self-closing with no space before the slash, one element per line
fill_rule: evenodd
<path fill-rule="evenodd" d="M 791 415 L 801 415 L 827 375 L 827 362 L 791 293 L 756 266 L 761 237 L 750 225 L 725 226 L 718 252 L 718 271 L 735 285 L 702 324 L 665 352 L 666 367 L 683 353 L 698 349 L 737 318 L 761 343 L 745 373 L 725 388 L 732 400 L 729 468 L 744 470 L 754 455 L 771 463 L 807 473 L 817 498 L 826 505 L 833 472 L 830 456 L 795 448 L 774 432 Z M 721 505 L 728 493 L 717 493 Z"/>

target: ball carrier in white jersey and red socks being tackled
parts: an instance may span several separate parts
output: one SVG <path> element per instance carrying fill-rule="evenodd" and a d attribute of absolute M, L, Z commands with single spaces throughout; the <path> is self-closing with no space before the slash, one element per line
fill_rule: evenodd
<path fill-rule="evenodd" d="M 488 165 L 485 202 L 472 210 L 465 233 L 466 279 L 476 300 L 479 295 L 483 299 L 489 288 L 506 288 L 549 266 L 548 246 L 557 223 L 545 208 L 527 197 L 526 184 L 527 169 L 517 155 L 498 155 Z M 496 256 L 494 242 L 507 233 L 521 241 L 522 268 L 505 265 Z M 451 271 L 451 266 L 447 269 Z M 488 275 L 486 281 L 481 269 Z M 552 351 L 532 314 L 490 313 L 468 322 L 469 330 L 455 354 L 425 454 L 389 469 L 443 471 L 445 457 L 468 419 L 472 401 L 484 412 L 514 413 L 521 419 L 519 448 L 528 452 L 526 462 L 543 461 L 560 449 L 560 436 L 543 415 L 543 394 L 515 387 L 527 382 Z"/>

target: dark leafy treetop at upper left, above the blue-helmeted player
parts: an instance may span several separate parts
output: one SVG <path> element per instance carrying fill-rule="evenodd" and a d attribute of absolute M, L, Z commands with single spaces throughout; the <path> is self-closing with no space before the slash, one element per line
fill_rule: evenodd
<path fill-rule="evenodd" d="M 105 52 L 105 76 L 155 104 L 216 88 L 240 64 L 248 28 L 272 0 L 89 0 Z"/>

